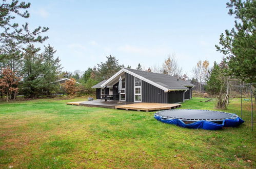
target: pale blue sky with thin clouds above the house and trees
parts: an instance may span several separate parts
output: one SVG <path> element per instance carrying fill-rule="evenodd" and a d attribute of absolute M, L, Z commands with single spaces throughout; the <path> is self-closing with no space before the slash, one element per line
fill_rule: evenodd
<path fill-rule="evenodd" d="M 31 3 L 30 18 L 20 21 L 31 30 L 49 27 L 43 45 L 53 46 L 63 70 L 72 72 L 92 68 L 110 54 L 126 67 L 140 63 L 147 69 L 175 53 L 183 73 L 192 77 L 200 59 L 210 66 L 222 59 L 215 45 L 234 25 L 223 0 L 25 2 Z"/>

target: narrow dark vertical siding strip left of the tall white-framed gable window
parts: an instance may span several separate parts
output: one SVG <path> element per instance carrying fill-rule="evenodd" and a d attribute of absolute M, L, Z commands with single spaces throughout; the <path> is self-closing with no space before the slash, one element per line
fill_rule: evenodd
<path fill-rule="evenodd" d="M 125 73 L 125 97 L 127 102 L 134 102 L 134 76 Z"/>

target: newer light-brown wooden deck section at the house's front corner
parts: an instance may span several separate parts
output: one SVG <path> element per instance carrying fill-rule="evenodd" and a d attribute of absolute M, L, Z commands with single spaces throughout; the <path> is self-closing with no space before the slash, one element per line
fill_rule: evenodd
<path fill-rule="evenodd" d="M 137 111 L 155 111 L 167 110 L 181 107 L 181 104 L 167 104 L 167 103 L 134 103 L 126 105 L 116 105 L 115 109 L 137 110 Z"/>

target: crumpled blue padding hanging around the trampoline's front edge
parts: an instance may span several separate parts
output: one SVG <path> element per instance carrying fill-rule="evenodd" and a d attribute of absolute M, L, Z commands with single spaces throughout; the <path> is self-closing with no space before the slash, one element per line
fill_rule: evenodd
<path fill-rule="evenodd" d="M 206 121 L 206 120 L 200 120 L 196 121 L 190 124 L 185 124 L 182 120 L 180 119 L 162 119 L 161 116 L 154 115 L 154 118 L 156 120 L 162 121 L 164 123 L 168 124 L 175 124 L 178 126 L 181 126 L 183 128 L 189 128 L 189 129 L 205 129 L 205 130 L 220 130 L 222 129 L 223 126 L 238 126 L 244 122 L 240 117 L 236 119 L 224 119 L 222 124 L 214 123 L 211 121 Z"/>

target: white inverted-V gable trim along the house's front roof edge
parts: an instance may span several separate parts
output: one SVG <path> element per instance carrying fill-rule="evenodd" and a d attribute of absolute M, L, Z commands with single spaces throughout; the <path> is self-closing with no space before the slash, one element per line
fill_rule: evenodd
<path fill-rule="evenodd" d="M 111 80 L 113 80 L 115 77 L 117 77 L 117 76 L 119 76 L 121 73 L 123 73 L 123 72 L 126 72 L 126 73 L 129 73 L 130 75 L 132 75 L 132 76 L 134 76 L 134 77 L 137 77 L 137 78 L 139 78 L 139 79 L 142 79 L 143 81 L 146 81 L 146 82 L 148 82 L 148 83 L 150 83 L 151 85 L 153 85 L 153 86 L 155 86 L 155 87 L 157 87 L 157 88 L 159 88 L 159 89 L 162 89 L 162 90 L 164 90 L 165 92 L 168 92 L 168 88 L 166 88 L 166 87 L 163 87 L 162 85 L 159 85 L 159 84 L 157 84 L 157 83 L 155 83 L 155 82 L 153 82 L 153 81 L 151 81 L 151 80 L 149 80 L 149 79 L 147 79 L 147 78 L 145 78 L 145 77 L 142 77 L 142 76 L 140 76 L 140 75 L 137 75 L 136 73 L 133 73 L 133 72 L 131 72 L 131 71 L 129 71 L 129 70 L 127 70 L 127 69 L 121 69 L 119 72 L 117 72 L 116 74 L 114 74 L 112 77 L 110 77 L 107 81 L 105 81 L 102 85 L 101 85 L 101 87 L 104 87 L 104 86 L 106 86 L 106 84 L 108 83 L 108 82 L 110 82 Z"/>

